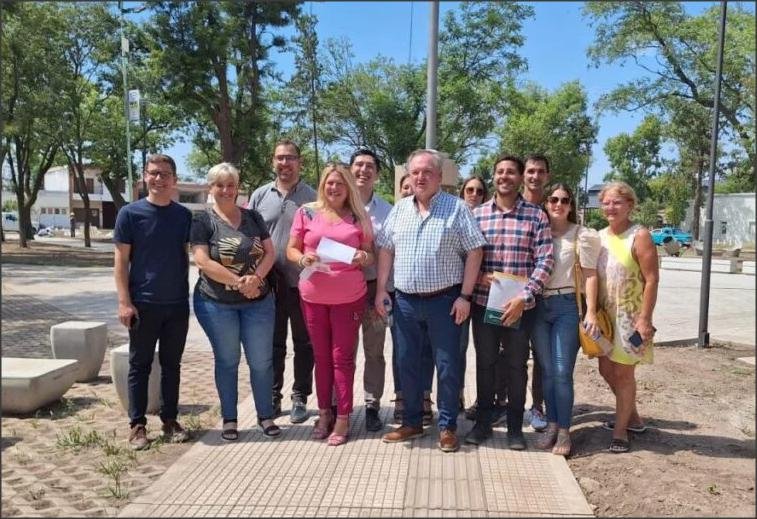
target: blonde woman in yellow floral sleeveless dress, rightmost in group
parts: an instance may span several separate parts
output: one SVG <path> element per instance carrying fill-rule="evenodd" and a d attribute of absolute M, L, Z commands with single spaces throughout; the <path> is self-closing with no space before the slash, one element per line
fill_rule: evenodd
<path fill-rule="evenodd" d="M 613 349 L 599 358 L 599 372 L 615 394 L 615 421 L 610 452 L 627 452 L 628 431 L 644 432 L 636 409 L 636 365 L 653 358 L 652 313 L 657 301 L 659 269 L 657 249 L 649 231 L 630 220 L 637 199 L 625 182 L 611 182 L 599 193 L 609 225 L 599 232 L 602 248 L 597 261 L 599 305 L 613 322 Z M 641 337 L 638 346 L 629 338 Z"/>

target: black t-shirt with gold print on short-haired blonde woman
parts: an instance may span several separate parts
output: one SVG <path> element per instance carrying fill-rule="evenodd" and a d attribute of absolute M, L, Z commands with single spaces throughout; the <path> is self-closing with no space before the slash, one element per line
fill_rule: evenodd
<path fill-rule="evenodd" d="M 238 276 L 244 276 L 255 272 L 263 258 L 263 240 L 270 238 L 270 235 L 260 213 L 253 209 L 240 208 L 240 211 L 242 219 L 238 229 L 231 227 L 213 209 L 195 213 L 189 240 L 192 245 L 207 245 L 210 259 Z M 264 281 L 260 297 L 265 297 L 270 292 L 270 285 Z M 231 286 L 210 279 L 202 270 L 196 288 L 205 297 L 219 303 L 241 304 L 251 301 Z"/>

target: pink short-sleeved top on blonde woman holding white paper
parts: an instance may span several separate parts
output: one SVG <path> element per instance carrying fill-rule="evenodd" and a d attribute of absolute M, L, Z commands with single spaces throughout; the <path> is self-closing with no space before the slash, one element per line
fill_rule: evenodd
<path fill-rule="evenodd" d="M 331 222 L 310 207 L 294 213 L 291 235 L 302 240 L 303 252 L 315 252 L 321 238 L 358 248 L 365 239 L 363 228 L 352 215 Z M 330 263 L 330 272 L 313 272 L 299 283 L 300 297 L 309 303 L 338 305 L 351 303 L 367 291 L 365 276 L 360 267 L 346 263 Z"/>

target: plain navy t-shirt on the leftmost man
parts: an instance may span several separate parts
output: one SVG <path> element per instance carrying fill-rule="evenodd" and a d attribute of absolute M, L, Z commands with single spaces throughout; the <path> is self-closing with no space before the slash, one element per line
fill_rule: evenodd
<path fill-rule="evenodd" d="M 191 211 L 173 201 L 161 206 L 142 198 L 118 211 L 113 241 L 131 246 L 129 295 L 133 302 L 189 301 L 191 223 Z"/>

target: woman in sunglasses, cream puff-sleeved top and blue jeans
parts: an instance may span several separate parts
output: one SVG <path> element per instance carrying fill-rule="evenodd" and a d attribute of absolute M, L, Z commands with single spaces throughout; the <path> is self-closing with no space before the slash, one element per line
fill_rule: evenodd
<path fill-rule="evenodd" d="M 579 288 L 585 292 L 586 312 L 583 326 L 597 328 L 598 233 L 576 223 L 576 199 L 565 184 L 547 191 L 544 206 L 552 228 L 555 264 L 542 297 L 536 303 L 531 338 L 542 368 L 544 400 L 547 404 L 547 429 L 537 442 L 553 454 L 570 454 L 570 424 L 573 412 L 573 368 L 578 354 L 578 306 L 574 265 L 583 271 Z"/>

